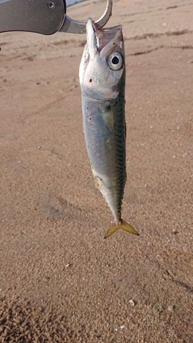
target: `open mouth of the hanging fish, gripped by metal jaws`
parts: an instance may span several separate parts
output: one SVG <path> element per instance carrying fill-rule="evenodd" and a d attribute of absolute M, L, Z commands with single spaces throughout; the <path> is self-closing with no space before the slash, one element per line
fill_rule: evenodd
<path fill-rule="evenodd" d="M 111 54 L 111 51 L 116 46 L 122 47 L 122 25 L 113 27 L 107 27 L 98 30 L 91 18 L 87 21 L 87 47 L 89 49 L 89 55 L 91 60 L 95 58 L 97 54 L 101 57 Z"/>

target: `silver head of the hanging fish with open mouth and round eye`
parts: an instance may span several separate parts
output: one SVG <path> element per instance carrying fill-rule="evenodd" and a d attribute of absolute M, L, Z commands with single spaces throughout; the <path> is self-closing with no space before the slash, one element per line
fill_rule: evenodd
<path fill-rule="evenodd" d="M 79 77 L 82 95 L 101 101 L 118 97 L 125 80 L 122 25 L 98 30 L 88 19 Z"/>

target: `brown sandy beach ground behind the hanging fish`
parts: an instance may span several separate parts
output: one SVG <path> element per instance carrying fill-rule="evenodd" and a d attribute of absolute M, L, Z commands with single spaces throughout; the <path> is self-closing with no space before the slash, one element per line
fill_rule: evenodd
<path fill-rule="evenodd" d="M 68 8 L 98 19 L 105 1 Z M 193 342 L 193 3 L 114 1 L 126 50 L 122 230 L 94 187 L 85 35 L 0 35 L 0 342 Z"/>

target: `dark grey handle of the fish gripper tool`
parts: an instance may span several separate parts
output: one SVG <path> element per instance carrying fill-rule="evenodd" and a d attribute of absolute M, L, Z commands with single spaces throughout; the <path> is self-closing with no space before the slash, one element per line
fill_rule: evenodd
<path fill-rule="evenodd" d="M 0 32 L 54 34 L 63 25 L 65 0 L 0 0 Z"/>

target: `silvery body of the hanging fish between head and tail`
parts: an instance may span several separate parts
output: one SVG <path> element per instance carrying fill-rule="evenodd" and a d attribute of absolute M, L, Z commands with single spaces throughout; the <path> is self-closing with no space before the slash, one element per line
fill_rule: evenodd
<path fill-rule="evenodd" d="M 121 219 L 126 182 L 126 123 L 122 85 L 124 73 L 120 80 L 120 94 L 111 102 L 82 95 L 83 130 L 95 187 L 103 194 L 116 220 Z M 109 110 L 113 115 L 112 128 L 104 119 Z"/>

